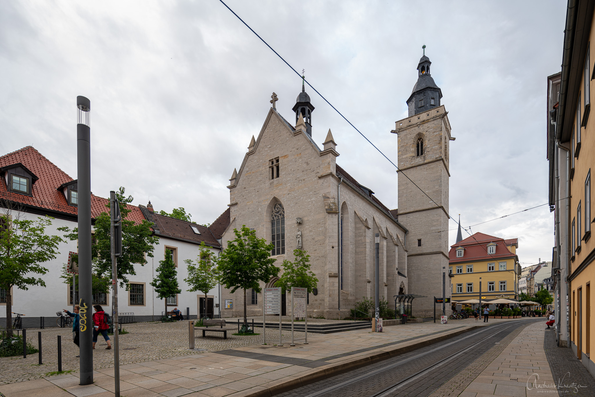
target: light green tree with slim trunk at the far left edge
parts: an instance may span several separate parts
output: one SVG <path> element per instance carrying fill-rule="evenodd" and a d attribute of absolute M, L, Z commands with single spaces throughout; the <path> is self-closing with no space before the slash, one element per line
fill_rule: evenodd
<path fill-rule="evenodd" d="M 45 287 L 45 282 L 35 277 L 45 275 L 48 269 L 41 264 L 56 258 L 60 236 L 46 235 L 52 217 L 37 220 L 21 219 L 20 211 L 11 211 L 10 205 L 0 215 L 0 288 L 6 291 L 6 329 L 12 335 L 11 288 L 27 290 L 30 285 Z M 11 219 L 12 218 L 12 219 Z"/>

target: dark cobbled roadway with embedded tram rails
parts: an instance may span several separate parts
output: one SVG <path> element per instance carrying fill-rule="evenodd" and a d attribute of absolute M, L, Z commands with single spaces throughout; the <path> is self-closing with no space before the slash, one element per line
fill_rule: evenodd
<path fill-rule="evenodd" d="M 450 355 L 458 352 L 460 349 L 468 345 L 471 345 L 472 343 L 475 343 L 478 340 L 481 340 L 484 337 L 496 332 L 496 330 L 502 329 L 503 326 L 512 325 L 513 329 L 516 328 L 520 330 L 523 329 L 526 326 L 526 324 L 527 323 L 524 322 L 519 324 L 499 325 L 498 327 L 492 327 L 490 329 L 481 330 L 481 332 L 477 333 L 477 335 L 471 336 L 468 339 L 462 339 L 463 337 L 468 336 L 468 334 L 464 334 L 457 337 L 460 342 L 453 343 L 452 345 L 450 343 L 453 342 L 453 339 L 448 339 L 443 342 L 435 343 L 433 345 L 426 346 L 424 348 L 390 358 L 389 360 L 380 361 L 375 364 L 368 365 L 367 367 L 358 368 L 356 370 L 340 374 L 339 376 L 334 376 L 331 379 L 326 379 L 320 382 L 312 383 L 311 385 L 293 389 L 289 392 L 281 393 L 278 396 L 302 397 L 311 396 L 314 393 L 320 393 L 317 394 L 317 396 L 324 397 L 371 396 L 375 393 L 380 392 L 386 387 L 394 385 L 400 380 L 406 379 L 409 376 L 412 376 L 418 373 L 419 371 L 424 370 L 424 368 L 427 368 L 430 365 L 440 360 L 443 360 L 443 358 L 449 357 Z M 489 340 L 487 340 L 487 342 L 483 342 L 480 346 L 477 346 L 477 348 L 472 349 L 471 351 L 466 352 L 465 354 L 462 354 L 459 357 L 456 357 L 453 360 L 448 361 L 443 366 L 431 371 L 431 373 L 427 376 L 421 377 L 420 379 L 415 380 L 415 382 L 403 385 L 402 389 L 397 390 L 397 392 L 390 393 L 390 396 L 429 395 L 433 390 L 436 390 L 437 387 L 442 385 L 447 380 L 451 379 L 454 374 L 458 373 L 463 368 L 465 368 L 469 364 L 469 362 L 474 361 L 478 357 L 482 357 L 484 352 L 490 351 L 493 348 L 494 343 L 504 343 L 503 341 L 505 339 L 512 340 L 509 338 L 509 335 L 510 333 L 515 332 L 518 333 L 519 331 L 512 330 L 511 332 L 510 330 L 505 330 L 503 332 L 500 332 L 496 336 L 493 336 Z M 435 349 L 437 348 L 440 349 L 438 351 L 435 351 Z M 430 354 L 422 355 L 421 357 L 415 358 L 414 361 L 404 362 L 403 364 L 400 364 L 397 367 L 387 368 L 389 365 L 394 365 L 398 362 L 411 359 L 412 357 L 417 357 L 418 355 L 428 353 L 430 351 Z M 385 370 L 384 368 L 387 369 Z M 366 374 L 370 373 L 372 373 L 371 376 L 365 377 L 359 380 L 358 382 L 350 382 L 358 376 L 365 376 Z M 475 376 L 472 379 L 474 378 Z M 469 383 L 471 382 L 471 380 L 469 380 Z M 340 385 L 345 382 L 349 383 L 347 383 L 343 387 L 339 387 L 338 389 L 329 390 L 329 392 L 326 393 L 321 393 L 322 390 L 327 389 L 330 386 Z M 462 390 L 459 393 L 461 392 Z M 459 395 L 459 393 L 456 395 Z"/>

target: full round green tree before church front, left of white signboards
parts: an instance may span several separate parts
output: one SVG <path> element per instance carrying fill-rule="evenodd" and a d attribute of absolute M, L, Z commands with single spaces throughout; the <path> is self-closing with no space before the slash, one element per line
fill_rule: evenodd
<path fill-rule="evenodd" d="M 246 320 L 246 290 L 253 288 L 261 291 L 259 282 L 267 283 L 271 277 L 279 274 L 279 268 L 274 265 L 275 258 L 271 258 L 273 244 L 267 244 L 266 239 L 256 237 L 256 232 L 242 225 L 239 231 L 233 229 L 236 238 L 227 242 L 227 248 L 221 251 L 219 257 L 212 260 L 217 263 L 220 274 L 219 281 L 231 293 L 238 289 L 244 290 L 244 326 Z"/>

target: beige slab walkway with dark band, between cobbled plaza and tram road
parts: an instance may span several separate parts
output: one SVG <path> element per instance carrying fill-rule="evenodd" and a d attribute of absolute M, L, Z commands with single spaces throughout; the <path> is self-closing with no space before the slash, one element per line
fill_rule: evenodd
<path fill-rule="evenodd" d="M 383 333 L 355 330 L 312 334 L 308 336 L 308 345 L 301 342 L 293 347 L 287 343 L 283 346 L 230 345 L 218 351 L 191 352 L 178 357 L 141 361 L 121 365 L 121 395 L 270 396 L 311 379 L 320 379 L 320 376 L 332 376 L 337 371 L 381 360 L 397 349 L 414 349 L 420 344 L 433 343 L 437 338 L 466 332 L 475 326 L 518 320 L 521 319 L 493 319 L 486 324 L 469 318 L 450 321 L 449 324 L 389 326 L 384 328 Z M 202 338 L 196 338 L 197 341 L 199 339 Z M 36 395 L 38 392 L 44 396 L 51 396 L 51 392 L 57 396 L 68 392 L 80 397 L 111 397 L 114 395 L 113 376 L 112 367 L 99 368 L 95 371 L 94 385 L 79 386 L 79 378 L 74 373 L 2 385 L 0 393 L 5 397 Z M 42 392 L 44 388 L 48 389 L 48 393 Z"/>

